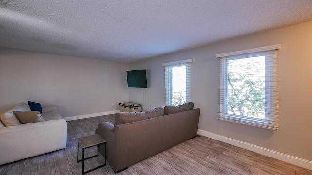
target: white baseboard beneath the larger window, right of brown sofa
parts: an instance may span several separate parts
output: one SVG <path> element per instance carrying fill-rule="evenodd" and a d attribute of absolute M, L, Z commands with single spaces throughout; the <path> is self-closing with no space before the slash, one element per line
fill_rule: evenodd
<path fill-rule="evenodd" d="M 302 159 L 302 158 L 290 156 L 290 155 L 287 155 L 287 154 L 284 154 L 284 153 L 273 151 L 273 150 L 270 150 L 270 149 L 267 149 L 267 148 L 263 148 L 263 147 L 260 147 L 260 146 L 253 145 L 253 144 L 249 144 L 249 143 L 246 143 L 246 142 L 243 142 L 243 141 L 234 140 L 234 139 L 231 139 L 231 138 L 228 138 L 228 137 L 224 137 L 224 136 L 221 136 L 221 135 L 217 135 L 217 134 L 214 134 L 214 133 L 211 133 L 211 132 L 208 132 L 208 131 L 204 131 L 204 130 L 201 130 L 201 129 L 198 129 L 198 135 L 205 136 L 205 137 L 208 137 L 208 138 L 212 138 L 212 139 L 215 139 L 215 140 L 219 140 L 219 141 L 222 141 L 222 142 L 225 142 L 225 143 L 229 143 L 231 145 L 238 146 L 240 148 L 244 148 L 244 149 L 247 149 L 247 150 L 250 150 L 250 151 L 253 151 L 253 152 L 265 155 L 265 156 L 268 156 L 268 157 L 273 157 L 273 158 L 276 158 L 278 160 L 282 160 L 282 161 L 285 161 L 285 162 L 288 162 L 288 163 L 291 163 L 291 164 L 294 164 L 294 165 L 297 165 L 297 166 L 300 166 L 300 167 L 312 170 L 312 161 L 309 161 L 309 160 L 305 160 L 305 159 Z"/>

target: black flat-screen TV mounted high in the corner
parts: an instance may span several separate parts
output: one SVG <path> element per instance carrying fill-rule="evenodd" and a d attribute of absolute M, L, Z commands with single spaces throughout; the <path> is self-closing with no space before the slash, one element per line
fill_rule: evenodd
<path fill-rule="evenodd" d="M 128 87 L 147 88 L 146 70 L 127 71 Z"/>

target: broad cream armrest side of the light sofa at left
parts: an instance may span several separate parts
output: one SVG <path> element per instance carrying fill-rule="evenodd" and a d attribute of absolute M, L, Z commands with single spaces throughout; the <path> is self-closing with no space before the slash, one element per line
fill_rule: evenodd
<path fill-rule="evenodd" d="M 0 128 L 0 165 L 66 147 L 63 119 Z"/>

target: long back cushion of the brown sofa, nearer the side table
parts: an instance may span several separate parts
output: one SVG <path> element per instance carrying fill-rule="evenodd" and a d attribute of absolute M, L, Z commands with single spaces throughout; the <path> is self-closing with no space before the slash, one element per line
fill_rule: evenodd
<path fill-rule="evenodd" d="M 153 117 L 162 116 L 164 114 L 164 109 L 162 107 L 157 107 L 144 112 L 120 112 L 117 113 L 115 118 L 115 124 L 113 130 L 119 124 L 136 122 L 144 119 L 150 119 Z"/>

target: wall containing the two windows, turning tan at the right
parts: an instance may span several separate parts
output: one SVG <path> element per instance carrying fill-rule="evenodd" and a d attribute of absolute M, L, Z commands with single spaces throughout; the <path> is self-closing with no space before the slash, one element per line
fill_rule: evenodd
<path fill-rule="evenodd" d="M 219 68 L 215 54 L 281 44 L 279 51 L 280 130 L 216 119 Z M 191 101 L 201 108 L 199 129 L 312 161 L 312 21 L 278 30 L 234 38 L 208 46 L 129 64 L 146 69 L 148 87 L 129 88 L 129 100 L 151 107 L 164 105 L 162 63 L 193 59 Z"/>

